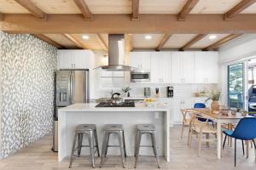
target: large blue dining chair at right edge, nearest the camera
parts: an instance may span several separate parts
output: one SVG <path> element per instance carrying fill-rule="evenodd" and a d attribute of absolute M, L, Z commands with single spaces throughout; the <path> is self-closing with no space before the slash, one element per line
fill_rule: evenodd
<path fill-rule="evenodd" d="M 223 132 L 225 134 L 224 144 L 226 142 L 227 136 L 235 139 L 235 167 L 236 167 L 236 139 L 240 139 L 243 146 L 244 140 L 252 140 L 254 148 L 256 150 L 256 144 L 253 139 L 256 139 L 256 117 L 245 117 L 242 118 L 234 131 L 226 130 Z M 224 149 L 223 144 L 223 149 Z"/>

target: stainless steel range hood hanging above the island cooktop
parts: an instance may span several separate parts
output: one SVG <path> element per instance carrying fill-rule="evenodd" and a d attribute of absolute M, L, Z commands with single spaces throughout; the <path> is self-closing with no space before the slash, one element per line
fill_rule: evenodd
<path fill-rule="evenodd" d="M 125 35 L 108 34 L 108 65 L 100 66 L 105 71 L 131 71 L 125 65 Z"/>

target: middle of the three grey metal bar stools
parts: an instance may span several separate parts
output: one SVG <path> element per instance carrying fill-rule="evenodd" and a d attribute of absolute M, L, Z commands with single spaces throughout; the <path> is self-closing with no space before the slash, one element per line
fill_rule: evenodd
<path fill-rule="evenodd" d="M 104 129 L 104 137 L 102 141 L 102 157 L 101 157 L 101 164 L 103 164 L 103 156 L 107 156 L 108 147 L 119 147 L 121 153 L 121 159 L 123 163 L 123 167 L 125 168 L 125 157 L 126 157 L 126 150 L 125 150 L 125 133 L 124 127 L 121 124 L 108 124 L 105 125 Z M 109 145 L 109 136 L 110 134 L 117 134 L 119 137 L 119 145 Z"/>

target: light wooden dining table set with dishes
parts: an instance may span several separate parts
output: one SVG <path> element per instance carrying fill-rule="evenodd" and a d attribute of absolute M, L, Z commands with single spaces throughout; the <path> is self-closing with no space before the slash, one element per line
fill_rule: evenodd
<path fill-rule="evenodd" d="M 244 118 L 245 116 L 242 116 L 241 113 L 237 112 L 236 115 L 229 114 L 228 116 L 224 116 L 222 114 L 216 114 L 210 109 L 207 108 L 201 108 L 201 109 L 192 109 L 195 112 L 198 112 L 201 114 L 201 116 L 204 116 L 208 119 L 211 119 L 213 122 L 217 123 L 217 156 L 218 159 L 221 159 L 222 155 L 222 127 L 221 125 L 224 123 L 238 123 L 241 118 Z"/>

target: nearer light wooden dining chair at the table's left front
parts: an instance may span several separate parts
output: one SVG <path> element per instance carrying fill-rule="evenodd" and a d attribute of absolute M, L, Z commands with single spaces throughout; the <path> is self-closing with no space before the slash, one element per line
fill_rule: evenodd
<path fill-rule="evenodd" d="M 203 118 L 206 121 L 201 122 L 198 121 L 198 118 Z M 198 156 L 201 155 L 201 144 L 202 142 L 207 142 L 207 146 L 209 146 L 209 142 L 216 141 L 216 138 L 210 139 L 210 134 L 217 135 L 216 128 L 212 127 L 208 123 L 209 119 L 207 117 L 201 116 L 200 114 L 192 114 L 191 121 L 189 123 L 189 148 L 191 148 L 192 137 L 195 134 L 198 139 Z M 203 139 L 203 134 L 206 134 L 206 139 Z"/>

